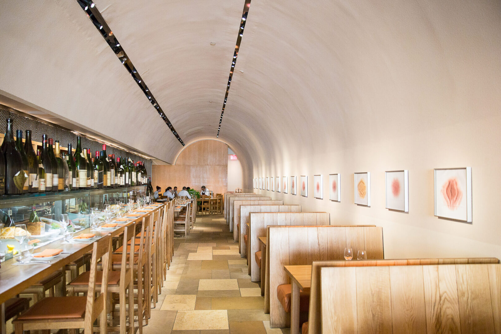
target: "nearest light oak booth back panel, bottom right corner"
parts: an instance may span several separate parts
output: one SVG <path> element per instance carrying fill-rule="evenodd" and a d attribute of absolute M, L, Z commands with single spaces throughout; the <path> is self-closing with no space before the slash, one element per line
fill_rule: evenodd
<path fill-rule="evenodd" d="M 496 334 L 501 264 L 323 267 L 323 333 Z"/>

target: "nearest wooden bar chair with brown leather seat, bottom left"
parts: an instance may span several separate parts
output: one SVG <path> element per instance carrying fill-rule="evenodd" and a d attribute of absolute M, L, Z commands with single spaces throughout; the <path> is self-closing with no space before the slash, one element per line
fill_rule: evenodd
<path fill-rule="evenodd" d="M 87 296 L 47 297 L 40 300 L 13 321 L 16 334 L 23 334 L 23 330 L 42 330 L 44 334 L 49 334 L 50 329 L 70 329 L 71 333 L 75 333 L 75 329 L 80 328 L 92 333 L 97 318 L 98 330 L 105 334 L 108 270 L 103 271 L 101 289 L 97 290 L 97 262 L 101 259 L 103 267 L 108 268 L 110 250 L 110 235 L 94 242 Z"/>

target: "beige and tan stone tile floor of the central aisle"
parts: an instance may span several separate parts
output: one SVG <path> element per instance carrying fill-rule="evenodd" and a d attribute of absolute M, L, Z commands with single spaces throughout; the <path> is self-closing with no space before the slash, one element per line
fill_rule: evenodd
<path fill-rule="evenodd" d="M 245 263 L 226 220 L 198 216 L 187 238 L 174 238 L 173 262 L 144 334 L 289 333 L 270 328 Z"/>

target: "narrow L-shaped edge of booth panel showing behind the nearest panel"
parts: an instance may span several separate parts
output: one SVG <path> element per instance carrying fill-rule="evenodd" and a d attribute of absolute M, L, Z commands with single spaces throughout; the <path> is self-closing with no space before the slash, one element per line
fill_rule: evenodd
<path fill-rule="evenodd" d="M 308 317 L 308 332 L 321 332 L 321 279 L 320 270 L 323 267 L 361 267 L 361 266 L 396 266 L 396 265 L 430 265 L 430 264 L 482 264 L 499 263 L 495 257 L 473 258 L 422 258 L 422 259 L 385 259 L 363 261 L 314 261 L 312 263 L 312 276 L 310 288 L 310 309 Z"/>

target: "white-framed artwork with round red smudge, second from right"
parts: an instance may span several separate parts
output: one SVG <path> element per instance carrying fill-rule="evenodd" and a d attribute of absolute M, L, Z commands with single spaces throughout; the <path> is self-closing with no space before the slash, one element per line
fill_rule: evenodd
<path fill-rule="evenodd" d="M 409 212 L 409 171 L 385 172 L 386 208 Z"/>

